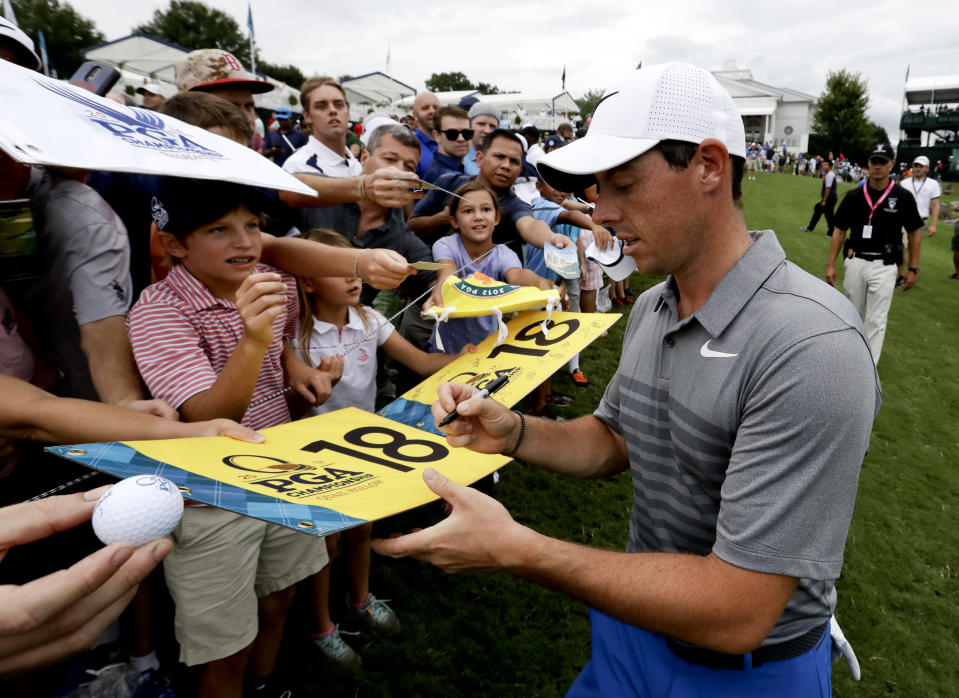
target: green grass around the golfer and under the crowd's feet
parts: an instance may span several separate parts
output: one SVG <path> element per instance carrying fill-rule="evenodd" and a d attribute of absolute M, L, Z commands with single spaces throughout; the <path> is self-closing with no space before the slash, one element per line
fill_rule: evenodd
<path fill-rule="evenodd" d="M 787 256 L 822 278 L 825 223 L 815 233 L 799 231 L 819 186 L 819 180 L 760 174 L 744 183 L 744 210 L 750 228 L 776 230 Z M 848 188 L 840 185 L 840 194 Z M 889 316 L 879 365 L 884 402 L 838 582 L 837 616 L 863 678 L 854 682 L 843 663 L 834 664 L 838 696 L 959 691 L 959 281 L 947 278 L 951 236 L 952 226 L 944 224 L 923 241 L 918 284 L 896 293 Z M 657 281 L 634 277 L 633 286 Z M 584 354 L 586 391 L 574 391 L 565 376 L 554 380 L 556 389 L 576 395 L 567 416 L 596 405 L 619 360 L 624 327 L 625 318 Z M 513 464 L 496 494 L 517 520 L 548 535 L 625 545 L 627 474 L 571 482 Z M 382 522 L 378 533 L 428 525 L 438 516 L 428 507 Z M 446 575 L 415 561 L 377 558 L 373 588 L 392 599 L 403 632 L 356 645 L 364 658 L 357 673 L 318 661 L 303 643 L 288 643 L 283 666 L 305 675 L 306 695 L 556 696 L 589 657 L 587 609 L 520 579 Z"/>

